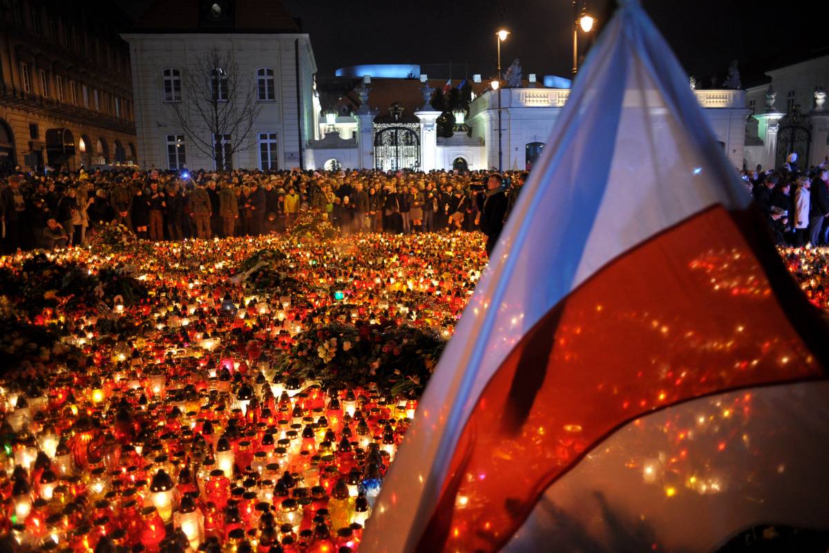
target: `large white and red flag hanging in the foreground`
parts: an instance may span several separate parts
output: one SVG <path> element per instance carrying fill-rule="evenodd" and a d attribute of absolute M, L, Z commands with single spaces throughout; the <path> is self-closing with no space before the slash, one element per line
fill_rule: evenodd
<path fill-rule="evenodd" d="M 710 551 L 759 523 L 829 529 L 826 324 L 637 2 L 526 187 L 361 551 Z"/>

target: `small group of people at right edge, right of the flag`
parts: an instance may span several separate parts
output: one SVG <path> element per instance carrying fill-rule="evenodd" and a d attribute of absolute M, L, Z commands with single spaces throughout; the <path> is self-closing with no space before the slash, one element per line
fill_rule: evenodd
<path fill-rule="evenodd" d="M 793 154 L 777 170 L 744 171 L 743 180 L 778 245 L 829 245 L 829 160 L 801 170 Z"/>

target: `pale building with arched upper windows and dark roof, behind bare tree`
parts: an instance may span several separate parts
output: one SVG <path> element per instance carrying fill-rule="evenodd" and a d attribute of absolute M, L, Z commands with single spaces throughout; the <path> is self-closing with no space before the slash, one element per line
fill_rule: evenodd
<path fill-rule="evenodd" d="M 252 10 L 251 2 L 199 2 L 193 4 L 198 12 L 183 22 L 169 12 L 175 4 L 156 2 L 143 22 L 122 35 L 132 64 L 138 164 L 170 170 L 216 168 L 214 156 L 196 147 L 192 134 L 208 144 L 216 141 L 188 99 L 188 87 L 205 87 L 192 82 L 201 79 L 197 61 L 216 49 L 230 59 L 240 83 L 252 87 L 259 109 L 246 136 L 228 133 L 220 138 L 221 143 L 240 146 L 229 165 L 299 167 L 303 148 L 318 129 L 317 66 L 308 35 L 295 32 L 298 27 L 284 12 Z M 177 27 L 167 28 L 171 22 Z M 187 114 L 189 133 L 176 108 Z"/>

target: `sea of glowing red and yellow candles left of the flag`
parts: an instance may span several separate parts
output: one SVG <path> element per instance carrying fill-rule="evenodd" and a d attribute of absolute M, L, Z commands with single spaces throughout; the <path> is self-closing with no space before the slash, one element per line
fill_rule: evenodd
<path fill-rule="evenodd" d="M 285 362 L 336 369 L 380 336 L 367 328 L 446 338 L 485 264 L 481 238 L 460 234 L 49 255 L 90 275 L 128 267 L 147 295 L 28 314 L 71 353 L 0 382 L 0 523 L 21 551 L 356 551 L 425 382 L 327 386 Z M 23 317 L 26 298 L 2 300 Z M 349 339 L 295 347 L 324 323 Z"/>

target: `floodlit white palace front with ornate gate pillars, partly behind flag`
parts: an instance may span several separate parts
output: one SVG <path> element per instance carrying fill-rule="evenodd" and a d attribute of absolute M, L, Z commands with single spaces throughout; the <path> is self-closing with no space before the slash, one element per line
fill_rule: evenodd
<path fill-rule="evenodd" d="M 413 86 L 416 84 L 413 82 Z M 358 94 L 371 95 L 369 87 L 361 86 Z M 361 91 L 362 89 L 362 91 Z M 419 156 L 409 155 L 402 163 L 389 163 L 378 143 L 378 132 L 393 124 L 376 123 L 379 110 L 361 108 L 352 116 L 340 115 L 331 124 L 320 124 L 322 140 L 309 143 L 306 149 L 306 167 L 332 168 L 409 168 L 430 171 L 468 168 L 470 170 L 498 167 L 498 109 L 497 95 L 501 94 L 501 152 L 504 170 L 530 168 L 541 154 L 545 142 L 555 128 L 561 109 L 570 96 L 569 89 L 511 88 L 487 90 L 469 104 L 465 123 L 468 133 L 455 132 L 452 138 L 435 134 L 435 119 L 439 112 L 428 107 L 414 112 L 419 129 L 408 129 L 406 143 L 417 143 Z M 704 108 L 716 139 L 734 167 L 744 162 L 745 120 L 749 109 L 745 106 L 743 90 L 695 90 L 696 98 Z M 367 102 L 362 101 L 366 106 Z M 458 114 L 456 114 L 456 119 Z M 386 119 L 383 119 L 386 121 Z M 411 123 L 405 124 L 411 127 Z M 405 126 L 405 125 L 401 125 Z M 342 127 L 342 129 L 341 129 Z M 403 131 L 400 131 L 401 133 Z M 349 138 L 344 138 L 349 137 Z M 402 144 L 400 148 L 406 148 Z M 381 154 L 384 156 L 381 158 Z"/>

